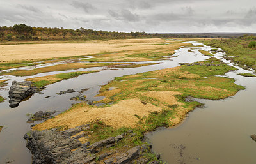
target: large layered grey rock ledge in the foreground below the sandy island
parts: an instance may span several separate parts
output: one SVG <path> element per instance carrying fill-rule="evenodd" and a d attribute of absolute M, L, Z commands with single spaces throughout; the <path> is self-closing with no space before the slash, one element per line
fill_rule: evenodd
<path fill-rule="evenodd" d="M 108 149 L 115 146 L 125 136 L 132 135 L 132 131 L 116 137 L 109 137 L 92 145 L 90 142 L 81 144 L 78 139 L 86 137 L 86 134 L 83 133 L 86 129 L 89 129 L 88 124 L 65 131 L 52 129 L 26 133 L 24 138 L 27 140 L 26 145 L 33 155 L 32 163 L 93 164 L 96 161 L 105 164 L 149 163 L 150 160 L 145 156 L 146 153 L 150 152 L 151 147 L 148 145 L 132 147 L 122 153 L 115 149 Z M 159 161 L 150 163 L 157 164 Z"/>

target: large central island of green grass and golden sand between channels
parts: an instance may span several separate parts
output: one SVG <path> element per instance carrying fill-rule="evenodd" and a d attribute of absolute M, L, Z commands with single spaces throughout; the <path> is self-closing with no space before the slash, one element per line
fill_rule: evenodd
<path fill-rule="evenodd" d="M 234 84 L 232 78 L 215 76 L 230 70 L 236 68 L 218 61 L 205 61 L 118 77 L 100 89 L 98 96 L 105 98 L 96 103 L 105 103 L 104 107 L 78 103 L 58 116 L 36 124 L 33 130 L 63 131 L 90 124 L 93 133 L 79 138 L 81 144 L 99 142 L 113 134 L 121 135 L 132 130 L 136 136 L 132 140 L 127 138 L 124 143 L 115 144 L 111 149 L 104 148 L 106 151 L 125 152 L 134 146 L 146 144 L 138 142 L 144 138 L 144 133 L 179 124 L 189 111 L 201 105 L 187 101 L 188 96 L 218 100 L 244 89 Z M 84 133 L 86 131 L 91 130 Z M 118 161 L 116 156 L 113 159 Z"/>

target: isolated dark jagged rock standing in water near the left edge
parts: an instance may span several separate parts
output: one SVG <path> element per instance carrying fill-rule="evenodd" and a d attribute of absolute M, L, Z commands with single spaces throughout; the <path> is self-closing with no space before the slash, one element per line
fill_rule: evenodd
<path fill-rule="evenodd" d="M 31 82 L 13 81 L 9 91 L 9 106 L 11 108 L 15 108 L 19 105 L 20 101 L 37 92 L 38 88 L 36 86 L 32 86 Z"/>

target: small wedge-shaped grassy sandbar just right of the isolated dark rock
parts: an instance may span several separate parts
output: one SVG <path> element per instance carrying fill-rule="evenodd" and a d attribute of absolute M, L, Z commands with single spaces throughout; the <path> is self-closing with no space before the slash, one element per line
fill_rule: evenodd
<path fill-rule="evenodd" d="M 61 80 L 70 79 L 70 78 L 78 77 L 79 75 L 96 73 L 96 72 L 100 72 L 100 71 L 77 71 L 77 72 L 69 72 L 69 73 L 60 73 L 60 74 L 49 75 L 45 77 L 27 78 L 26 81 L 32 82 L 37 87 L 45 87 L 49 84 L 60 82 Z"/>

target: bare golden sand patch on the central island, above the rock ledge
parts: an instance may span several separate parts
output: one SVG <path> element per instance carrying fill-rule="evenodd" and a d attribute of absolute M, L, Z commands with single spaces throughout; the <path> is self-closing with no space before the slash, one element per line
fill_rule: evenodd
<path fill-rule="evenodd" d="M 122 100 L 111 107 L 96 108 L 86 107 L 74 108 L 68 112 L 64 112 L 52 119 L 48 119 L 44 123 L 37 124 L 33 130 L 45 130 L 58 126 L 66 126 L 74 128 L 81 124 L 90 123 L 97 119 L 102 119 L 104 123 L 113 128 L 122 126 L 135 127 L 138 119 L 134 116 L 148 116 L 149 112 L 161 111 L 160 107 L 156 107 L 150 103 L 144 105 L 139 99 Z"/>

